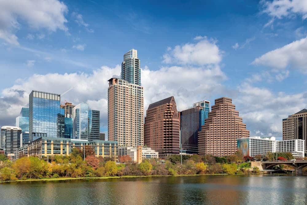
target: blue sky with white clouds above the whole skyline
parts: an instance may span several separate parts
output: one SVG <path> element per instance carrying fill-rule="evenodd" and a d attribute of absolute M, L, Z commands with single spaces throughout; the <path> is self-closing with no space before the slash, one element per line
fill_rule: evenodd
<path fill-rule="evenodd" d="M 101 111 L 107 80 L 138 50 L 145 109 L 174 96 L 182 110 L 231 97 L 251 136 L 282 136 L 306 108 L 307 1 L 0 2 L 1 125 L 31 90 Z"/>

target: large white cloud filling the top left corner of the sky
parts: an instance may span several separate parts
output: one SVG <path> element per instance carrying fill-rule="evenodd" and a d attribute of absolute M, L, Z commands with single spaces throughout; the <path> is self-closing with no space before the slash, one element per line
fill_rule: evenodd
<path fill-rule="evenodd" d="M 19 45 L 16 31 L 20 28 L 19 20 L 26 22 L 30 28 L 45 28 L 68 31 L 64 15 L 67 6 L 58 0 L 11 0 L 0 1 L 0 38 L 10 44 Z"/>

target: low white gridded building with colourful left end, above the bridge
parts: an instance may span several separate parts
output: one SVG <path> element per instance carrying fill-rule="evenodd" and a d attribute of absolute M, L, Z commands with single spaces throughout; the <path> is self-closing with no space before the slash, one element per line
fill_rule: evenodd
<path fill-rule="evenodd" d="M 268 152 L 291 152 L 295 157 L 304 157 L 304 140 L 276 140 L 275 137 L 249 137 L 238 139 L 238 152 L 243 156 L 265 156 Z"/>

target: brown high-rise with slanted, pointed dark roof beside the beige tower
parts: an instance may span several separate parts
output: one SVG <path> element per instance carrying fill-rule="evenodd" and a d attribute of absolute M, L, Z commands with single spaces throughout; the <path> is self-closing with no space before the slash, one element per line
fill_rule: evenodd
<path fill-rule="evenodd" d="M 174 97 L 152 103 L 146 111 L 144 124 L 144 144 L 159 152 L 165 158 L 167 154 L 179 154 L 178 117 Z"/>

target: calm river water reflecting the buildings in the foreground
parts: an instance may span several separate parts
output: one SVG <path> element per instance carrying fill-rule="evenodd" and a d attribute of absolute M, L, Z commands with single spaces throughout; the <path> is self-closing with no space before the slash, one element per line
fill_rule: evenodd
<path fill-rule="evenodd" d="M 1 204 L 307 204 L 307 176 L 226 175 L 12 182 Z"/>

